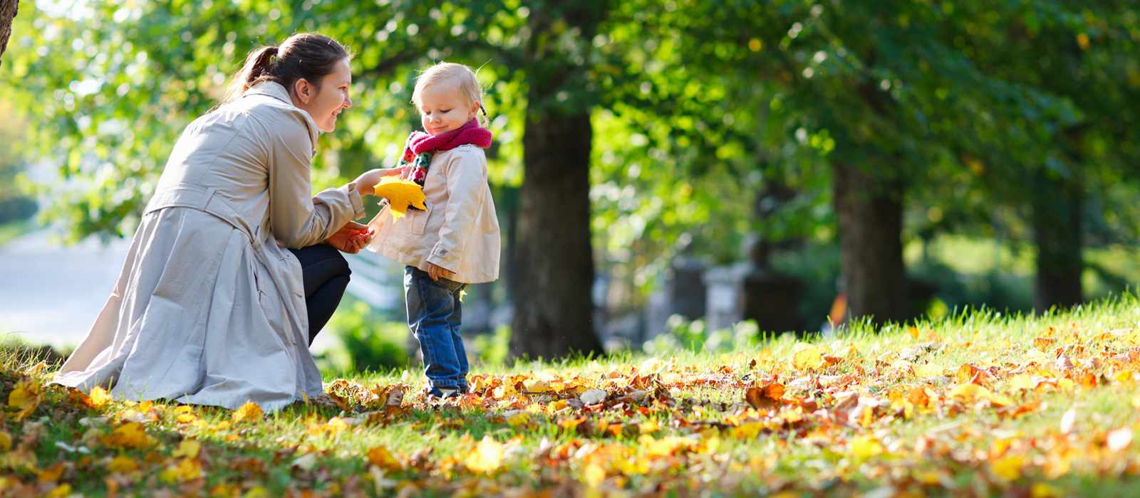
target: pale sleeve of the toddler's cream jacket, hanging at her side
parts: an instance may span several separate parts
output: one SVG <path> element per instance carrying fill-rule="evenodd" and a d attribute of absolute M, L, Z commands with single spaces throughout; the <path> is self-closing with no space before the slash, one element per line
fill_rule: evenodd
<path fill-rule="evenodd" d="M 457 153 L 447 165 L 447 207 L 443 210 L 443 225 L 439 229 L 439 242 L 427 256 L 429 263 L 434 263 L 448 271 L 455 272 L 462 260 L 466 241 L 471 232 L 478 227 L 480 207 L 487 199 L 487 167 L 480 160 L 482 151 Z"/>

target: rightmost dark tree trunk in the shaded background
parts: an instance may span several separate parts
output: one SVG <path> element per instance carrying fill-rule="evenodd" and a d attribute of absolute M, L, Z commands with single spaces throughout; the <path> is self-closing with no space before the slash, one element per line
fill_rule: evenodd
<path fill-rule="evenodd" d="M 1040 179 L 1039 184 L 1033 194 L 1033 241 L 1037 246 L 1033 307 L 1040 313 L 1081 304 L 1084 259 L 1080 181 Z"/>

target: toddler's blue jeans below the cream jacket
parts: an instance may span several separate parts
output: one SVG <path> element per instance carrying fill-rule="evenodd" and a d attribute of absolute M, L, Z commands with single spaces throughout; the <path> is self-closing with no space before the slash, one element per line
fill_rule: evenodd
<path fill-rule="evenodd" d="M 459 337 L 459 291 L 466 287 L 443 277 L 437 282 L 414 266 L 404 268 L 408 327 L 420 340 L 424 375 L 433 388 L 467 389 L 467 350 Z"/>

